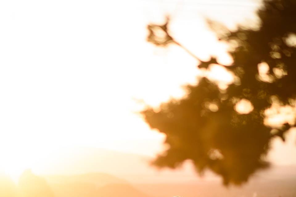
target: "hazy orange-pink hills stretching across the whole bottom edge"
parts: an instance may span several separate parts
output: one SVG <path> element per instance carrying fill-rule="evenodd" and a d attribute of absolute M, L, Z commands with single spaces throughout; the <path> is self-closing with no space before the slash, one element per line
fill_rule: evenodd
<path fill-rule="evenodd" d="M 9 179 L 0 181 L 0 196 L 24 197 L 21 195 L 24 192 L 30 194 L 28 197 L 296 196 L 296 166 L 274 166 L 269 170 L 260 171 L 242 187 L 228 188 L 223 187 L 217 179 L 183 182 L 182 173 L 168 175 L 167 179 L 175 179 L 177 182 L 159 182 L 157 174 L 154 177 L 151 175 L 149 182 L 141 183 L 128 182 L 107 173 L 40 177 L 27 171 L 21 176 L 19 186 L 14 186 Z M 141 175 L 138 175 L 138 178 L 140 179 Z M 142 179 L 146 177 L 142 176 Z"/>

